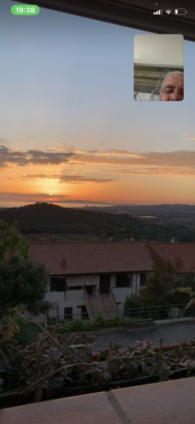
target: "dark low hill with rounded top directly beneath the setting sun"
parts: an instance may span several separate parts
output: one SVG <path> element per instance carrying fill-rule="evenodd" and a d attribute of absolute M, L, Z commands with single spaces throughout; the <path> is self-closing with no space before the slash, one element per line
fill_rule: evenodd
<path fill-rule="evenodd" d="M 23 233 L 29 232 L 88 232 L 115 228 L 130 228 L 137 219 L 130 215 L 120 216 L 104 212 L 92 212 L 82 209 L 63 208 L 54 204 L 36 203 L 18 208 L 6 208 L 0 211 L 0 219 L 9 224 L 18 221 Z"/>

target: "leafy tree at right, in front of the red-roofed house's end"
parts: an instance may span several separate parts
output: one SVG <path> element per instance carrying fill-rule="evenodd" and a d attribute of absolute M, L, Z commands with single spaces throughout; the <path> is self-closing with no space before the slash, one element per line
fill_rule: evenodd
<path fill-rule="evenodd" d="M 194 286 L 194 274 L 182 275 L 182 261 L 177 258 L 174 264 L 165 261 L 150 249 L 153 271 L 147 278 L 146 286 L 139 293 L 140 306 L 173 305 L 187 302 L 187 295 L 177 291 L 181 287 Z"/>

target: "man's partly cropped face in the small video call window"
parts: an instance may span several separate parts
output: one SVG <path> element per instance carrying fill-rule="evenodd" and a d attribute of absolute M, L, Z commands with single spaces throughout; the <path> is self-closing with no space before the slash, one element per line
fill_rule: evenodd
<path fill-rule="evenodd" d="M 180 73 L 166 76 L 160 90 L 159 100 L 169 102 L 180 101 L 184 98 L 184 77 Z"/>

